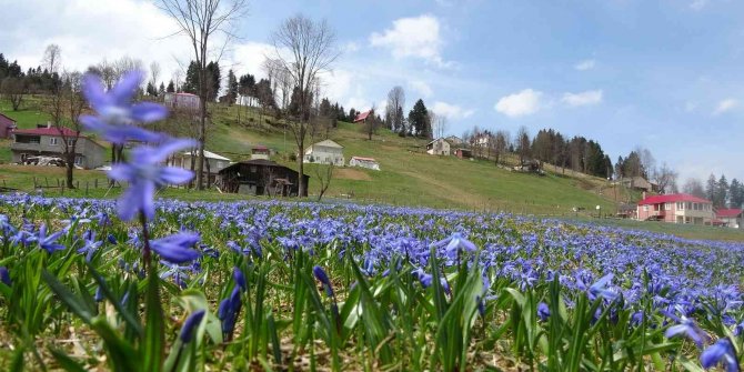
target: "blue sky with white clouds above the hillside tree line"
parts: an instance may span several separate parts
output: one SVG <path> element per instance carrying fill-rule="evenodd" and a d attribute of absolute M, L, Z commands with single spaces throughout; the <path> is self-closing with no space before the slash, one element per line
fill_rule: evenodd
<path fill-rule="evenodd" d="M 153 1 L 0 9 L 0 52 L 24 69 L 57 43 L 66 69 L 128 56 L 157 61 L 168 81 L 193 53 Z M 335 30 L 341 54 L 323 93 L 346 109 L 382 109 L 400 86 L 408 109 L 423 99 L 451 134 L 552 128 L 599 141 L 613 163 L 647 148 L 681 184 L 744 179 L 744 1 L 249 0 L 239 38 L 222 50 L 219 37 L 212 53 L 262 77 L 272 32 L 298 13 Z"/>

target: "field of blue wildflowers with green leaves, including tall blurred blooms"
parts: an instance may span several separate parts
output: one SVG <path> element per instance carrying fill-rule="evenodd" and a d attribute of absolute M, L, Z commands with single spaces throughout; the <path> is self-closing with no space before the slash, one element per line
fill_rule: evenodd
<path fill-rule="evenodd" d="M 0 197 L 8 371 L 738 371 L 744 244 L 507 214 L 157 200 L 193 145 L 132 123 L 117 200 Z"/>

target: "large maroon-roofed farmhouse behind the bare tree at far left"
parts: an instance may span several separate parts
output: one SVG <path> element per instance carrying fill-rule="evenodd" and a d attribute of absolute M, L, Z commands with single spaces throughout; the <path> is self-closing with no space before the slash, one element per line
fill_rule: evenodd
<path fill-rule="evenodd" d="M 76 131 L 62 128 L 37 128 L 17 129 L 12 131 L 13 142 L 10 151 L 13 153 L 13 162 L 22 163 L 30 157 L 54 157 L 64 155 L 62 140 L 67 138 L 72 144 L 73 138 L 79 135 L 74 149 L 74 164 L 83 169 L 94 169 L 103 164 L 105 148 L 93 141 L 90 137 L 79 134 Z"/>

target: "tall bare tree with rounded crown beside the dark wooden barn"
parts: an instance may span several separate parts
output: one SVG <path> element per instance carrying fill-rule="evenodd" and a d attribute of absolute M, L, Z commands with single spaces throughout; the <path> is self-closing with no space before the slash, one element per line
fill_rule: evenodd
<path fill-rule="evenodd" d="M 319 76 L 328 71 L 339 57 L 335 49 L 335 32 L 326 21 L 315 22 L 302 14 L 282 22 L 272 34 L 275 58 L 288 71 L 292 87 L 295 112 L 288 115 L 288 127 L 294 135 L 298 150 L 298 172 L 300 197 L 308 195 L 304 184 L 304 141 L 312 108 L 313 88 Z M 285 50 L 289 56 L 282 53 Z M 290 104 L 292 107 L 292 104 Z"/>

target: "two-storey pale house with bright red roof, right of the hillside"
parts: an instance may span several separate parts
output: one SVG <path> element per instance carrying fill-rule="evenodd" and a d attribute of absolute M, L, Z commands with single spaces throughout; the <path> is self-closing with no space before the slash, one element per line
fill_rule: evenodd
<path fill-rule="evenodd" d="M 653 195 L 641 200 L 636 207 L 641 221 L 670 223 L 713 224 L 715 213 L 710 200 L 686 193 Z"/>

